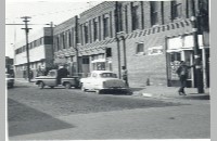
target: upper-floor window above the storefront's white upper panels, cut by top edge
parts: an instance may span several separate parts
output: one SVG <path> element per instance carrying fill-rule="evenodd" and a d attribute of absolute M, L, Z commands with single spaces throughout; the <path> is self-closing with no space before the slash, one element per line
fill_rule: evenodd
<path fill-rule="evenodd" d="M 171 20 L 180 18 L 182 15 L 182 2 L 183 0 L 171 1 Z"/>

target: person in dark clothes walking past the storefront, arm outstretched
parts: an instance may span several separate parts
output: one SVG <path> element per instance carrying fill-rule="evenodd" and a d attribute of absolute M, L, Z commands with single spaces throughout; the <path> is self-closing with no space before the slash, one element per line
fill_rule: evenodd
<path fill-rule="evenodd" d="M 184 61 L 180 61 L 180 66 L 178 67 L 177 72 L 176 72 L 179 76 L 179 80 L 180 80 L 180 85 L 181 85 L 179 88 L 179 91 L 178 91 L 179 95 L 187 95 L 186 91 L 184 91 L 184 87 L 187 87 L 189 69 L 193 66 L 194 65 L 188 66 Z"/>

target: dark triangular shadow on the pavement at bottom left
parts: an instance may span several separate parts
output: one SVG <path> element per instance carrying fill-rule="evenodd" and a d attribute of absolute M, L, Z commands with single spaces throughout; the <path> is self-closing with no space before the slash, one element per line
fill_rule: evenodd
<path fill-rule="evenodd" d="M 8 100 L 9 137 L 75 128 L 12 99 Z"/>

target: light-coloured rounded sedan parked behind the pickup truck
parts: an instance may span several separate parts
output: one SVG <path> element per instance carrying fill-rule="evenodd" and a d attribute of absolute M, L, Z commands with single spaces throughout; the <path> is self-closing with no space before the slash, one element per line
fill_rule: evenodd
<path fill-rule="evenodd" d="M 93 90 L 100 93 L 102 90 L 127 90 L 124 80 L 118 79 L 117 75 L 110 70 L 93 70 L 87 78 L 80 79 L 80 87 L 82 91 Z"/>

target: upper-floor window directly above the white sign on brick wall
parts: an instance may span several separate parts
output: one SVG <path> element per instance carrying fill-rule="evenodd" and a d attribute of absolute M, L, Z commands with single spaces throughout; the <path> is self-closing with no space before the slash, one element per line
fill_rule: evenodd
<path fill-rule="evenodd" d="M 158 24 L 158 17 L 157 17 L 157 1 L 151 1 L 151 24 L 157 25 Z"/>

